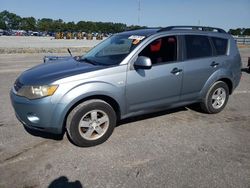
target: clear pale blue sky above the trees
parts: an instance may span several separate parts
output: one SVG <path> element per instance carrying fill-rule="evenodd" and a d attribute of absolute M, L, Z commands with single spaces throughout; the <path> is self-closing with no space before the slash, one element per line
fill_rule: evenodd
<path fill-rule="evenodd" d="M 0 0 L 3 10 L 21 17 L 76 23 L 83 20 L 148 27 L 250 28 L 250 0 Z"/>

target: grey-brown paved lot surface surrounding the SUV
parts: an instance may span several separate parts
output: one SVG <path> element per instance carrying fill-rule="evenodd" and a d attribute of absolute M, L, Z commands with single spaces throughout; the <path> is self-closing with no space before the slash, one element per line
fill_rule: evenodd
<path fill-rule="evenodd" d="M 0 55 L 0 187 L 250 187 L 250 74 L 227 107 L 188 107 L 123 121 L 96 147 L 28 134 L 9 89 L 44 54 Z M 241 49 L 246 67 L 250 49 Z M 42 136 L 42 135 L 40 135 Z"/>

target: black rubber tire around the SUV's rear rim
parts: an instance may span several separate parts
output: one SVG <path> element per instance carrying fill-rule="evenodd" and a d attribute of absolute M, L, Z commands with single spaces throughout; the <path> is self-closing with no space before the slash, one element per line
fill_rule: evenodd
<path fill-rule="evenodd" d="M 216 94 L 215 92 L 219 91 L 218 89 L 221 88 L 222 91 L 225 91 L 225 100 L 223 103 L 221 103 L 220 105 L 218 104 L 218 107 L 215 108 L 214 106 L 216 106 L 216 101 L 212 98 L 214 94 Z M 218 81 L 215 82 L 210 89 L 208 90 L 205 98 L 203 99 L 203 101 L 200 104 L 201 110 L 208 113 L 208 114 L 216 114 L 219 113 L 220 111 L 222 111 L 228 101 L 229 98 L 229 89 L 228 89 L 228 85 L 223 82 L 223 81 Z"/>

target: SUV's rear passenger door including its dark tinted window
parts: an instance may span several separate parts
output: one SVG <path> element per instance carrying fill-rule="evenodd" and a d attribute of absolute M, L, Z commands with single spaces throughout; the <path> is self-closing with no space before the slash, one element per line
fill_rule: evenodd
<path fill-rule="evenodd" d="M 214 51 L 208 36 L 184 35 L 184 74 L 181 100 L 192 100 L 199 96 L 208 78 L 220 64 L 213 57 Z"/>

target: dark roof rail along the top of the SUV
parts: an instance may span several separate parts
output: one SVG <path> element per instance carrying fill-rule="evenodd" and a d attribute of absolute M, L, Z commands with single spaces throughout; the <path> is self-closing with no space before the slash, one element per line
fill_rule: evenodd
<path fill-rule="evenodd" d="M 199 30 L 199 31 L 212 31 L 212 32 L 218 32 L 218 33 L 226 33 L 225 30 L 216 28 L 216 27 L 207 27 L 207 26 L 168 26 L 161 28 L 157 32 L 162 32 L 162 31 L 171 31 L 174 29 L 190 29 L 190 30 Z"/>

